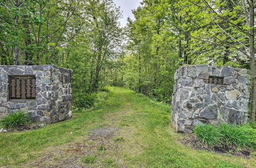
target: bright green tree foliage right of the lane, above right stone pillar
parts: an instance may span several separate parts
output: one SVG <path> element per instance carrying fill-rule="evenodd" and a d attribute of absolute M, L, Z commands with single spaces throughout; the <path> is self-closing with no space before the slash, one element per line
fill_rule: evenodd
<path fill-rule="evenodd" d="M 133 14 L 118 74 L 126 88 L 169 103 L 182 65 L 250 68 L 242 1 L 145 0 Z"/>

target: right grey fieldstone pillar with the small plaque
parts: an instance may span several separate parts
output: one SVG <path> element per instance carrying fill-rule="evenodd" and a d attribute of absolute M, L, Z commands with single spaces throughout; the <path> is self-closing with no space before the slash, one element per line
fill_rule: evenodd
<path fill-rule="evenodd" d="M 210 83 L 212 77 L 222 83 Z M 177 132 L 190 133 L 198 124 L 247 122 L 248 70 L 187 65 L 176 71 L 174 79 L 172 124 Z"/>

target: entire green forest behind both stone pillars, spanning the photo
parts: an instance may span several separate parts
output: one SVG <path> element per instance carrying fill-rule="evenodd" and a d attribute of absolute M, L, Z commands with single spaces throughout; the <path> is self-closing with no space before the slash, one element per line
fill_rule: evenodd
<path fill-rule="evenodd" d="M 143 0 L 120 26 L 112 0 L 2 0 L 1 65 L 73 70 L 73 104 L 89 108 L 104 86 L 170 104 L 174 73 L 187 64 L 246 68 L 255 120 L 254 0 Z"/>

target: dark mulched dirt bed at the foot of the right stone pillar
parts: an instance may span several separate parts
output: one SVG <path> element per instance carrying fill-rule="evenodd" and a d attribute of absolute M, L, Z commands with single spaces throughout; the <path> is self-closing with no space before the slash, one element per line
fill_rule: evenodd
<path fill-rule="evenodd" d="M 189 146 L 196 150 L 213 151 L 219 154 L 228 153 L 233 156 L 243 156 L 246 158 L 250 158 L 250 151 L 248 149 L 237 150 L 236 147 L 226 146 L 226 145 L 206 147 L 204 144 L 199 142 L 199 139 L 196 137 L 195 134 L 184 134 L 184 135 L 185 137 L 179 140 L 179 142 L 184 146 Z"/>

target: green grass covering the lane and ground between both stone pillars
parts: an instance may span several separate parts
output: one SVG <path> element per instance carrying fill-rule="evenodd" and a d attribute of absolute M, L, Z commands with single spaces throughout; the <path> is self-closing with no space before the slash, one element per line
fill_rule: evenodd
<path fill-rule="evenodd" d="M 87 113 L 42 129 L 0 135 L 0 166 L 33 162 L 48 147 L 75 142 L 91 130 L 118 127 L 108 147 L 95 147 L 96 167 L 255 167 L 251 159 L 197 151 L 179 143 L 182 134 L 170 127 L 170 106 L 123 88 L 109 88 L 105 101 Z M 108 119 L 113 115 L 113 121 Z M 122 126 L 124 125 L 129 126 Z M 121 127 L 120 127 L 121 125 Z M 73 132 L 70 134 L 70 132 Z M 122 143 L 114 142 L 122 137 Z M 91 142 L 92 145 L 94 142 Z M 100 144 L 100 143 L 99 143 Z M 101 144 L 102 145 L 102 144 Z M 100 145 L 98 145 L 100 146 Z M 105 146 L 104 146 L 105 147 Z M 82 156 L 81 156 L 82 157 Z M 80 158 L 79 158 L 80 159 Z"/>

